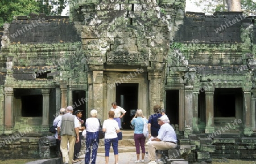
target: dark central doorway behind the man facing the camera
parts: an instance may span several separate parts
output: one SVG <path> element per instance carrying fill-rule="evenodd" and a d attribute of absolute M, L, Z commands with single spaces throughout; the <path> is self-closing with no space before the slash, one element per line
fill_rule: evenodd
<path fill-rule="evenodd" d="M 133 119 L 134 110 L 138 109 L 138 84 L 122 83 L 116 85 L 115 100 L 118 106 L 126 110 L 125 116 L 121 119 L 123 129 L 131 129 L 130 121 Z"/>

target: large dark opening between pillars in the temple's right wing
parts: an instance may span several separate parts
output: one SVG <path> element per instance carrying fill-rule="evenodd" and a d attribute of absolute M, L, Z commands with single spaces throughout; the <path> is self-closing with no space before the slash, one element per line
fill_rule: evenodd
<path fill-rule="evenodd" d="M 242 88 L 215 88 L 214 117 L 235 117 L 236 101 L 241 97 Z"/>

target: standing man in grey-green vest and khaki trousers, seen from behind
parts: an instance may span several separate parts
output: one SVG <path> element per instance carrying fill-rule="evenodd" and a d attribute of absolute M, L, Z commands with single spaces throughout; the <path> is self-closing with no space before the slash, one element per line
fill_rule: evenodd
<path fill-rule="evenodd" d="M 58 139 L 61 139 L 60 150 L 62 152 L 63 162 L 64 164 L 72 164 L 74 145 L 75 143 L 79 143 L 79 120 L 75 115 L 72 115 L 72 106 L 68 106 L 66 112 L 66 114 L 61 116 L 57 124 L 57 132 Z"/>

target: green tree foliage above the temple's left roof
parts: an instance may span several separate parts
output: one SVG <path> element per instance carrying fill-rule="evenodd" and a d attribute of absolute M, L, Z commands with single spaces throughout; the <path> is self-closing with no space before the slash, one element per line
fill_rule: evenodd
<path fill-rule="evenodd" d="M 68 0 L 0 0 L 0 27 L 10 23 L 14 16 L 30 13 L 61 15 Z"/>

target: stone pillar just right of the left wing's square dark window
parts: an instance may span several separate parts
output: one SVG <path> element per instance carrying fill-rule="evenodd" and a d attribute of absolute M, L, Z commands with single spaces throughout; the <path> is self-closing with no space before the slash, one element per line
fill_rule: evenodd
<path fill-rule="evenodd" d="M 50 89 L 42 89 L 43 94 L 43 118 L 42 126 L 49 126 L 49 92 Z"/>

